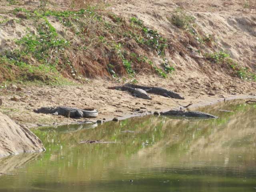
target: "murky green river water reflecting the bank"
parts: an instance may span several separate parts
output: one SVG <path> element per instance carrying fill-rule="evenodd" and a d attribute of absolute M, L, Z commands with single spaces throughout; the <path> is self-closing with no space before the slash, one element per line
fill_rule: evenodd
<path fill-rule="evenodd" d="M 46 152 L 0 159 L 0 192 L 256 192 L 256 105 L 200 110 L 220 118 L 34 129 Z"/>

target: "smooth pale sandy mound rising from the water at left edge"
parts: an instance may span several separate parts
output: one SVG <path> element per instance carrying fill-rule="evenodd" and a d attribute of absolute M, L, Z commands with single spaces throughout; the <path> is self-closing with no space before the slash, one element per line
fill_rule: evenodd
<path fill-rule="evenodd" d="M 19 126 L 1 112 L 0 127 L 0 157 L 45 150 L 36 135 L 27 128 Z"/>

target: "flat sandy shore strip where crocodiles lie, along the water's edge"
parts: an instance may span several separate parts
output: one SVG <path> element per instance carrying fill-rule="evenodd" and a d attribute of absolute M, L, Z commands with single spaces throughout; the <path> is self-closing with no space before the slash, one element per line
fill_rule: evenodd
<path fill-rule="evenodd" d="M 152 76 L 138 77 L 140 84 L 159 86 L 168 90 L 175 90 L 185 97 L 185 100 L 170 99 L 164 96 L 150 94 L 152 100 L 144 100 L 132 96 L 129 92 L 110 90 L 108 86 L 121 85 L 115 81 L 90 80 L 87 84 L 73 86 L 8 86 L 0 90 L 3 105 L 0 111 L 8 114 L 27 128 L 46 125 L 74 124 L 84 122 L 86 118 L 72 119 L 51 114 L 37 114 L 33 112 L 44 106 L 72 106 L 77 108 L 95 108 L 99 115 L 96 120 L 112 120 L 151 114 L 155 111 L 179 109 L 192 104 L 193 109 L 200 106 L 223 102 L 228 99 L 252 98 L 256 94 L 254 82 L 230 81 L 219 86 L 220 90 L 209 92 L 207 86 L 198 86 L 196 79 L 192 82 L 178 83 L 178 80 Z M 230 90 L 229 88 L 236 88 Z M 16 87 L 20 87 L 17 90 Z M 14 99 L 16 98 L 16 99 Z"/>

